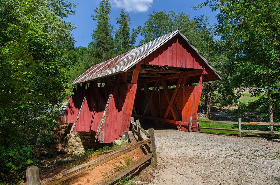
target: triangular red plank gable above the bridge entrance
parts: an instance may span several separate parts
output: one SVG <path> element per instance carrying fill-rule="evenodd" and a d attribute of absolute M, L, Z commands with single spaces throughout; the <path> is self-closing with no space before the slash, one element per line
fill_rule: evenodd
<path fill-rule="evenodd" d="M 191 69 L 206 67 L 200 56 L 178 35 L 145 57 L 140 63 Z M 208 72 L 208 66 L 206 72 Z"/>

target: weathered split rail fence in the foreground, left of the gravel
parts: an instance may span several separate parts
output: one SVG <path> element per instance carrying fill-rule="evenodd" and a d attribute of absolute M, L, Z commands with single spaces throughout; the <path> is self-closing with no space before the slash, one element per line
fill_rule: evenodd
<path fill-rule="evenodd" d="M 92 160 L 90 162 L 87 162 L 85 164 L 76 166 L 72 169 L 69 169 L 65 172 L 59 173 L 55 175 L 52 178 L 46 179 L 45 181 L 40 183 L 40 177 L 39 177 L 39 169 L 37 166 L 29 166 L 26 170 L 26 181 L 27 185 L 54 185 L 57 183 L 60 183 L 64 180 L 67 180 L 69 178 L 72 178 L 76 175 L 82 174 L 83 172 L 86 172 L 90 169 L 95 168 L 96 166 L 102 165 L 110 160 L 113 160 L 129 151 L 132 151 L 138 147 L 141 147 L 144 145 L 144 147 L 147 149 L 147 155 L 143 156 L 139 160 L 133 162 L 131 165 L 125 167 L 124 169 L 118 171 L 116 174 L 114 174 L 112 177 L 107 178 L 105 181 L 99 183 L 102 185 L 107 185 L 115 182 L 119 178 L 122 178 L 126 174 L 128 174 L 133 169 L 138 168 L 142 164 L 144 164 L 146 161 L 151 159 L 151 165 L 155 167 L 157 165 L 157 159 L 156 159 L 156 143 L 155 143 L 155 136 L 154 136 L 154 129 L 148 129 L 148 133 L 142 129 L 142 127 L 139 124 L 139 120 L 136 120 L 134 122 L 133 118 L 131 118 L 130 121 L 131 124 L 131 131 L 126 132 L 126 135 L 128 134 L 129 140 L 131 142 L 130 145 L 126 147 L 122 147 L 116 151 L 110 152 L 104 156 L 100 156 L 95 160 Z M 146 139 L 143 139 L 143 136 L 141 135 L 141 132 L 146 136 Z M 136 141 L 134 134 L 136 134 L 138 137 Z"/>

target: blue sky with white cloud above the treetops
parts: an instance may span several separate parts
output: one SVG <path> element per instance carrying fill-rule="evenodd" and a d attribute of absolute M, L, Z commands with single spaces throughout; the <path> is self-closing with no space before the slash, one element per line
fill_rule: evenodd
<path fill-rule="evenodd" d="M 148 15 L 153 10 L 177 11 L 184 12 L 191 17 L 206 15 L 209 16 L 209 23 L 217 23 L 217 12 L 212 12 L 210 8 L 203 7 L 201 10 L 194 10 L 192 7 L 204 2 L 205 0 L 109 0 L 111 4 L 111 25 L 114 29 L 118 28 L 116 17 L 119 17 L 120 10 L 124 8 L 128 11 L 132 25 L 130 28 L 136 28 L 138 25 L 143 26 Z M 100 0 L 72 0 L 78 3 L 75 8 L 74 16 L 69 16 L 66 20 L 75 25 L 76 29 L 72 31 L 75 38 L 75 46 L 87 46 L 91 41 L 91 34 L 96 29 L 96 21 L 91 17 L 94 9 L 99 6 Z M 142 37 L 139 35 L 136 45 Z"/>

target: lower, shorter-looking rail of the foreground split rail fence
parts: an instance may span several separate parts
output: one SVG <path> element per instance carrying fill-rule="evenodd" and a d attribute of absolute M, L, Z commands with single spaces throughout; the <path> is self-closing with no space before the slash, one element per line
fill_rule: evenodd
<path fill-rule="evenodd" d="M 136 162 L 132 163 L 131 165 L 129 165 L 128 167 L 118 171 L 115 175 L 113 175 L 110 178 L 107 178 L 105 181 L 103 181 L 102 183 L 98 183 L 99 185 L 109 185 L 114 183 L 116 180 L 118 180 L 119 178 L 122 178 L 124 175 L 128 174 L 129 172 L 131 172 L 133 169 L 137 168 L 138 166 L 142 165 L 143 163 L 145 163 L 147 160 L 152 158 L 152 154 L 147 154 L 146 156 L 140 158 L 139 160 L 137 160 Z"/>

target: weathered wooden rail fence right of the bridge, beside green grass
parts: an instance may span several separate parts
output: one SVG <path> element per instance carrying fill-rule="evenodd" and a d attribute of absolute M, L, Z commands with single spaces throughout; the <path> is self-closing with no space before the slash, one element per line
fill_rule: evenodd
<path fill-rule="evenodd" d="M 236 131 L 239 132 L 239 137 L 241 133 L 258 133 L 258 134 L 280 134 L 280 132 L 275 131 L 264 131 L 264 130 L 242 130 L 242 125 L 266 125 L 266 126 L 280 126 L 280 123 L 267 123 L 267 122 L 242 122 L 241 118 L 238 121 L 207 121 L 207 120 L 193 120 L 192 117 L 189 117 L 189 132 L 192 132 L 193 129 L 213 129 L 213 130 L 227 130 L 227 131 Z M 238 125 L 238 129 L 225 129 L 225 128 L 214 128 L 214 127 L 201 127 L 193 126 L 193 123 L 218 123 L 218 124 L 235 124 Z"/>

